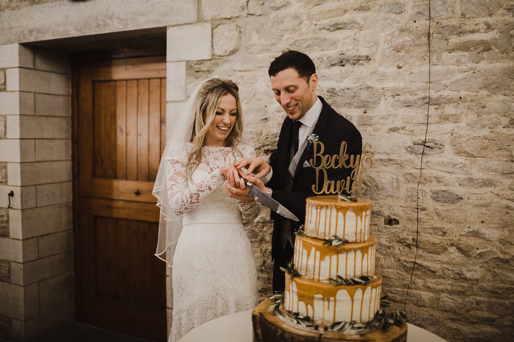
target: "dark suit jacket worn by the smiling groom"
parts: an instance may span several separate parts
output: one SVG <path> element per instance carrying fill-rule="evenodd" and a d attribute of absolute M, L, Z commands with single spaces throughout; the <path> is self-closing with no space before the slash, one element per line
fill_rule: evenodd
<path fill-rule="evenodd" d="M 322 97 L 318 97 L 323 103 L 320 117 L 313 134 L 319 136 L 319 141 L 325 145 L 323 154 L 339 155 L 341 142 L 347 143 L 347 154 L 360 155 L 362 153 L 362 138 L 357 128 L 347 119 L 340 116 L 330 107 Z M 291 221 L 291 234 L 293 234 L 305 221 L 305 199 L 309 196 L 318 196 L 312 186 L 316 183 L 316 170 L 314 167 L 303 167 L 304 161 L 310 161 L 314 157 L 314 148 L 305 148 L 298 163 L 295 177 L 292 179 L 291 191 L 284 191 L 285 177 L 289 177 L 289 156 L 291 143 L 292 120 L 286 117 L 280 130 L 277 150 L 270 156 L 269 164 L 273 168 L 273 175 L 266 186 L 273 190 L 271 197 L 284 205 L 289 211 L 300 219 L 299 222 Z M 301 144 L 302 142 L 300 142 Z M 330 168 L 327 170 L 329 180 L 346 180 L 350 176 L 352 168 Z M 320 184 L 322 186 L 322 184 Z M 271 212 L 270 218 L 274 220 L 273 236 L 271 239 L 271 258 L 274 259 L 277 253 L 283 253 L 279 241 L 279 221 L 287 220 L 285 217 Z"/>

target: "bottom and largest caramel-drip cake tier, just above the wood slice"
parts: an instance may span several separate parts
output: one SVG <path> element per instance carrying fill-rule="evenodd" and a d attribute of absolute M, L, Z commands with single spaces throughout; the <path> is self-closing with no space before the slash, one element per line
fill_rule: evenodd
<path fill-rule="evenodd" d="M 317 323 L 363 322 L 380 309 L 382 277 L 377 272 L 366 285 L 333 285 L 286 273 L 284 308 L 309 316 Z"/>

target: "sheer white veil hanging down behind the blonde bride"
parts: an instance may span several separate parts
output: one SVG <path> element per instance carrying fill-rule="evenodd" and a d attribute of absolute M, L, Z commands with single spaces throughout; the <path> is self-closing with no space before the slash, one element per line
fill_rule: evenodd
<path fill-rule="evenodd" d="M 182 215 L 177 216 L 170 208 L 168 200 L 168 189 L 166 185 L 168 164 L 171 159 L 180 159 L 178 156 L 172 155 L 172 146 L 178 143 L 185 143 L 191 140 L 191 134 L 193 132 L 193 123 L 195 118 L 196 98 L 198 90 L 203 83 L 193 90 L 188 102 L 183 107 L 182 111 L 175 116 L 175 123 L 166 123 L 167 125 L 172 124 L 173 130 L 171 132 L 168 143 L 164 148 L 162 158 L 159 164 L 159 170 L 155 179 L 154 189 L 152 194 L 157 197 L 157 206 L 160 208 L 160 219 L 159 219 L 159 238 L 157 241 L 157 250 L 155 256 L 159 259 L 167 261 L 171 267 L 173 263 L 173 254 L 175 253 L 175 247 L 177 245 L 178 237 L 182 231 Z M 166 253 L 166 258 L 163 254 Z"/>

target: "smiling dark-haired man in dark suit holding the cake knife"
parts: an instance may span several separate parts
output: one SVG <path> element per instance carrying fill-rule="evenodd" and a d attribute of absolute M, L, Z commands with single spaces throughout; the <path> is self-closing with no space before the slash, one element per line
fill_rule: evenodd
<path fill-rule="evenodd" d="M 324 155 L 339 155 L 341 142 L 347 143 L 347 154 L 360 155 L 362 138 L 355 126 L 322 97 L 316 96 L 318 75 L 313 61 L 305 53 L 286 50 L 271 62 L 268 74 L 275 99 L 284 108 L 287 117 L 282 123 L 277 150 L 270 156 L 269 164 L 261 158 L 246 158 L 235 163 L 238 169 L 246 167 L 247 181 L 258 186 L 274 200 L 285 206 L 300 221 L 290 221 L 271 212 L 274 220 L 271 239 L 273 262 L 273 291 L 284 290 L 286 267 L 293 256 L 295 231 L 304 224 L 305 199 L 316 196 L 312 186 L 316 183 L 316 170 L 309 165 L 314 148 L 306 142 L 311 135 L 318 136 L 325 146 Z M 328 180 L 346 180 L 353 168 L 329 168 Z M 266 185 L 259 180 L 271 173 Z M 269 178 L 266 177 L 266 178 Z M 321 185 L 320 185 L 321 186 Z M 226 186 L 230 197 L 251 200 L 248 188 Z"/>

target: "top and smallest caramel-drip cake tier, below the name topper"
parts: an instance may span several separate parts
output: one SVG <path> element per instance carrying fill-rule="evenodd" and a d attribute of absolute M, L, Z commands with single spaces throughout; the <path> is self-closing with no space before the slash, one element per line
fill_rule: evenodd
<path fill-rule="evenodd" d="M 371 202 L 348 202 L 338 196 L 314 196 L 306 201 L 304 234 L 318 239 L 338 236 L 348 242 L 368 240 Z"/>

